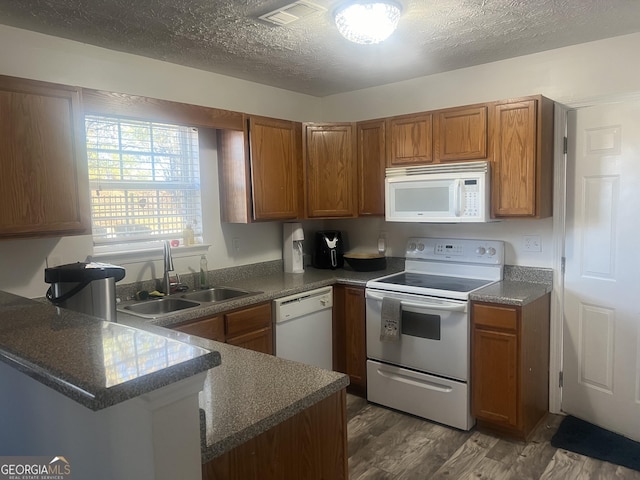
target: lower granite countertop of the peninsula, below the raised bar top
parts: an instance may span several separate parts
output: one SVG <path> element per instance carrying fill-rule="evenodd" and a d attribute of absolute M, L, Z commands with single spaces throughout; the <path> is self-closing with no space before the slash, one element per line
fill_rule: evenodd
<path fill-rule="evenodd" d="M 342 373 L 169 330 L 127 316 L 139 326 L 174 340 L 220 352 L 200 392 L 202 463 L 242 445 L 349 384 Z"/>

